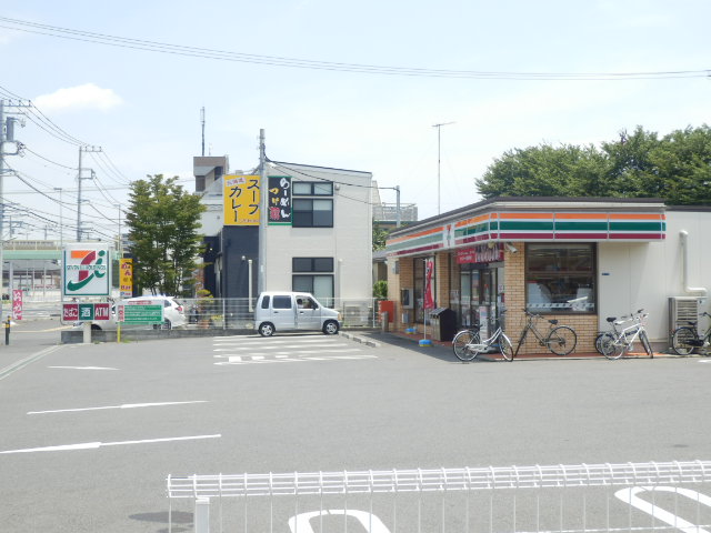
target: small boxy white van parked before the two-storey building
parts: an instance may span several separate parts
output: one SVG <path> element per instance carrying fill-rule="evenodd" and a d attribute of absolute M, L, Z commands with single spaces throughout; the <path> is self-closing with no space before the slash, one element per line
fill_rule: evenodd
<path fill-rule="evenodd" d="M 321 330 L 334 335 L 341 328 L 341 313 L 324 308 L 308 292 L 262 292 L 254 309 L 254 324 L 262 336 L 288 330 Z"/>

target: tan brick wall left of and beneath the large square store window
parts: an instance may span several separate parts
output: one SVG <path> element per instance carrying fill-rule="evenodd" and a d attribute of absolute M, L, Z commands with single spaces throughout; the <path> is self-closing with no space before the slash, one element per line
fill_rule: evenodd
<path fill-rule="evenodd" d="M 514 242 L 518 250 L 511 253 L 504 250 L 505 273 L 505 333 L 511 339 L 513 348 L 525 325 L 525 245 L 523 242 Z M 559 325 L 569 325 L 578 334 L 575 352 L 594 352 L 594 341 L 598 334 L 598 316 L 595 314 L 545 314 L 537 321 L 539 331 L 543 334 L 548 331 L 548 319 L 558 319 Z M 535 336 L 529 332 L 525 343 L 519 353 L 541 353 L 548 350 L 538 343 Z"/>

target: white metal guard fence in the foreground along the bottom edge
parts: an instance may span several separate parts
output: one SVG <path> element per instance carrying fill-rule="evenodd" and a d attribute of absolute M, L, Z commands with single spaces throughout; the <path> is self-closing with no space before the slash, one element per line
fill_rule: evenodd
<path fill-rule="evenodd" d="M 167 483 L 170 533 L 711 532 L 711 461 L 171 475 Z M 173 515 L 182 520 L 173 524 Z"/>

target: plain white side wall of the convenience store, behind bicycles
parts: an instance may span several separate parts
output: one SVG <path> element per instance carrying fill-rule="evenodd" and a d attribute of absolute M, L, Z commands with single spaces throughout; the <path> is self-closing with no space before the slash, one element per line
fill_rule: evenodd
<path fill-rule="evenodd" d="M 649 313 L 652 341 L 665 341 L 669 329 L 668 299 L 693 295 L 684 292 L 679 232 L 689 232 L 690 286 L 711 291 L 711 212 L 667 211 L 667 239 L 662 242 L 603 242 L 598 248 L 598 302 L 600 329 L 607 316 L 629 314 L 643 308 Z M 709 300 L 705 301 L 705 311 Z"/>

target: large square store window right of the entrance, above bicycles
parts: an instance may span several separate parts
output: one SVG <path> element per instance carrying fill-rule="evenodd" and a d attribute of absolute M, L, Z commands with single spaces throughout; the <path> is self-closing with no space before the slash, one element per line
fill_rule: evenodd
<path fill-rule="evenodd" d="M 594 244 L 527 244 L 525 308 L 539 313 L 594 313 Z"/>

